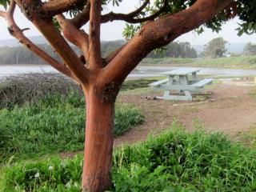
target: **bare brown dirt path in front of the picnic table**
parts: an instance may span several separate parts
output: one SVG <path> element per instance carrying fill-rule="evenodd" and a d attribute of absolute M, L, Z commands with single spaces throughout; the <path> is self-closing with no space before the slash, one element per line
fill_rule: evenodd
<path fill-rule="evenodd" d="M 256 90 L 256 86 L 237 86 L 230 83 L 215 85 L 211 88 L 212 102 L 192 105 L 142 98 L 148 94 L 121 95 L 119 102 L 130 102 L 141 107 L 146 115 L 146 122 L 115 138 L 114 145 L 143 141 L 150 133 L 158 134 L 169 129 L 174 118 L 188 130 L 193 130 L 194 125 L 199 122 L 207 131 L 218 130 L 231 137 L 246 132 L 256 122 L 256 98 L 250 96 L 253 90 Z"/>

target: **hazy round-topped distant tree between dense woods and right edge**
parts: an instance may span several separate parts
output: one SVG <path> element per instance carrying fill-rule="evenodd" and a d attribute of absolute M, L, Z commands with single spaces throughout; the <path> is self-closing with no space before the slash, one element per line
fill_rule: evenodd
<path fill-rule="evenodd" d="M 206 58 L 222 58 L 226 53 L 226 43 L 223 38 L 214 38 L 206 44 L 202 55 Z"/>

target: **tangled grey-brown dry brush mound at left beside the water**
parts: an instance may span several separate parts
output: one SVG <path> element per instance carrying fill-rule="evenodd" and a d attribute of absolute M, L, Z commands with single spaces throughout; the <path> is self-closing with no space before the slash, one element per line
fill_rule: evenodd
<path fill-rule="evenodd" d="M 20 74 L 5 77 L 0 84 L 0 109 L 38 102 L 48 94 L 67 95 L 70 90 L 82 92 L 75 82 L 61 74 Z"/>

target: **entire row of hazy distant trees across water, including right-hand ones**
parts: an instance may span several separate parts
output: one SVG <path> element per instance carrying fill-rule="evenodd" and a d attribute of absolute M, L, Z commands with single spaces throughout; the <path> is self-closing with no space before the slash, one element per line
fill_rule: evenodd
<path fill-rule="evenodd" d="M 114 50 L 123 46 L 125 41 L 102 42 L 102 55 L 110 54 Z M 222 58 L 226 57 L 226 41 L 223 38 L 214 38 L 208 42 L 204 50 L 199 54 L 200 58 Z M 60 60 L 54 50 L 48 45 L 40 45 L 42 50 L 45 50 L 56 60 Z M 73 47 L 79 55 L 79 50 Z M 232 54 L 231 56 L 239 55 L 256 55 L 256 44 L 248 42 L 241 54 Z M 190 45 L 190 42 L 171 42 L 163 48 L 162 51 L 155 53 L 152 51 L 147 55 L 147 58 L 198 58 L 197 51 Z M 46 64 L 37 55 L 31 53 L 23 46 L 3 46 L 0 47 L 0 65 L 1 64 Z"/>

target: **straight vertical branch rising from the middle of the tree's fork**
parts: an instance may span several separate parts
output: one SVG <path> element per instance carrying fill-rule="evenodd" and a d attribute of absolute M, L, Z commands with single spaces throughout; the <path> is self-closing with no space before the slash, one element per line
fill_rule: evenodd
<path fill-rule="evenodd" d="M 90 0 L 89 66 L 92 68 L 102 67 L 100 41 L 101 12 L 102 0 Z"/>

